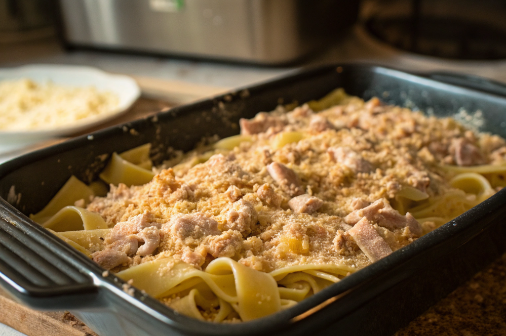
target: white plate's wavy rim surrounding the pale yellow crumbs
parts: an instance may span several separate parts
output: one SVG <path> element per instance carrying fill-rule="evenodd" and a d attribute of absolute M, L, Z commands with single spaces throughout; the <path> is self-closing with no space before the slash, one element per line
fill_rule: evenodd
<path fill-rule="evenodd" d="M 61 86 L 95 87 L 98 91 L 110 91 L 118 96 L 120 102 L 109 113 L 104 113 L 91 120 L 83 119 L 72 125 L 60 128 L 36 131 L 0 131 L 0 144 L 17 147 L 36 141 L 68 136 L 126 112 L 140 96 L 140 88 L 136 81 L 125 75 L 116 75 L 102 70 L 76 65 L 33 64 L 17 68 L 0 68 L 0 81 L 29 78 L 37 83 L 52 81 Z"/>

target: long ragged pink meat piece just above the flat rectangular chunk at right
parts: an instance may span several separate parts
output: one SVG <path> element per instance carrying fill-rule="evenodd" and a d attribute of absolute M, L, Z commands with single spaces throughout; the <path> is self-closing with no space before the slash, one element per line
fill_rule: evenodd
<path fill-rule="evenodd" d="M 344 217 L 344 222 L 356 225 L 363 218 L 390 230 L 407 226 L 411 233 L 417 236 L 422 234 L 420 223 L 410 213 L 402 216 L 386 199 L 378 199 L 369 206 L 353 211 Z"/>

